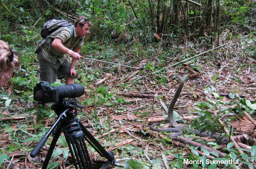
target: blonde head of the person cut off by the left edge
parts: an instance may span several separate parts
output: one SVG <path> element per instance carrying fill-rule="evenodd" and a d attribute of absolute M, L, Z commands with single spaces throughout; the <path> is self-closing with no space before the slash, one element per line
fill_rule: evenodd
<path fill-rule="evenodd" d="M 12 48 L 6 42 L 0 40 L 0 86 L 4 83 L 4 77 L 8 71 L 20 66 L 20 61 L 15 51 L 13 51 L 13 60 L 8 60 L 11 52 Z"/>

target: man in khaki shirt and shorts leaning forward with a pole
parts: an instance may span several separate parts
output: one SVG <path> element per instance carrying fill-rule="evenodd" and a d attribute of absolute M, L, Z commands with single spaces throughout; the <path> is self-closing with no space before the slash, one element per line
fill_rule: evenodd
<path fill-rule="evenodd" d="M 66 78 L 66 85 L 74 83 L 76 77 L 74 66 L 76 61 L 82 58 L 79 53 L 91 26 L 91 21 L 81 16 L 71 27 L 60 27 L 52 32 L 47 42 L 45 39 L 37 42 L 39 46 L 45 43 L 37 54 L 41 81 L 54 83 L 58 77 L 58 79 Z M 72 58 L 71 65 L 66 55 Z M 77 107 L 85 108 L 84 105 L 79 104 L 79 106 Z"/>

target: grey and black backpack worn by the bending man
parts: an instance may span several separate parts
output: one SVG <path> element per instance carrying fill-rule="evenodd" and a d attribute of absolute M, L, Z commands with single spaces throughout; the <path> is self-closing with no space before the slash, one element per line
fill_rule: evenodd
<path fill-rule="evenodd" d="M 70 30 L 71 30 L 71 37 L 69 38 L 68 41 L 66 41 L 65 43 L 63 44 L 66 44 L 68 43 L 72 37 L 74 36 L 74 30 L 73 30 L 73 27 L 71 27 L 73 24 L 70 23 L 69 21 L 67 20 L 57 20 L 57 19 L 52 19 L 52 20 L 49 20 L 47 22 L 44 23 L 42 29 L 40 30 L 40 35 L 42 38 L 44 38 L 44 42 L 47 42 L 47 40 L 49 39 L 49 35 L 56 31 L 57 29 L 59 29 L 60 27 L 69 27 Z M 41 48 L 45 45 L 45 43 L 43 43 L 41 46 L 39 46 L 38 48 L 36 48 L 36 51 L 35 53 L 38 53 Z"/>

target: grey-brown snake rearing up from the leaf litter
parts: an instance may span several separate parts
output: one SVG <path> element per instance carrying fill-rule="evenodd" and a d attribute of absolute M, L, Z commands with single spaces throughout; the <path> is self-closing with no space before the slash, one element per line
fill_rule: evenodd
<path fill-rule="evenodd" d="M 221 137 L 220 133 L 213 134 L 212 132 L 205 132 L 205 131 L 200 132 L 199 130 L 196 130 L 196 129 L 191 129 L 191 128 L 188 128 L 188 127 L 185 127 L 185 126 L 181 126 L 177 123 L 178 121 L 175 121 L 175 119 L 173 117 L 173 108 L 174 108 L 174 105 L 175 105 L 176 101 L 178 100 L 178 98 L 180 96 L 180 92 L 181 92 L 181 90 L 184 86 L 184 79 L 181 76 L 178 75 L 178 76 L 175 76 L 175 78 L 180 80 L 180 85 L 179 85 L 178 89 L 176 90 L 174 96 L 172 97 L 172 100 L 171 100 L 171 102 L 169 104 L 169 107 L 168 107 L 167 114 L 168 114 L 169 121 L 164 122 L 164 124 L 165 123 L 171 123 L 172 127 L 165 128 L 165 129 L 157 129 L 155 126 L 160 125 L 162 123 L 155 123 L 155 124 L 150 125 L 149 128 L 151 130 L 157 131 L 157 132 L 161 132 L 161 131 L 167 132 L 167 133 L 171 132 L 170 134 L 168 134 L 169 138 L 173 138 L 173 137 L 176 137 L 176 136 L 183 135 L 182 129 L 186 129 L 186 130 L 194 132 L 197 136 L 215 138 L 215 139 L 217 139 L 216 143 L 219 144 L 219 145 L 228 142 L 229 139 L 226 138 L 226 137 L 224 137 L 224 138 Z"/>

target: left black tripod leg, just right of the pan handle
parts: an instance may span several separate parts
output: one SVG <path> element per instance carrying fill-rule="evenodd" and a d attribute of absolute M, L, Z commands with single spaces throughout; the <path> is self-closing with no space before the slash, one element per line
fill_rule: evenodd
<path fill-rule="evenodd" d="M 62 127 L 57 126 L 55 131 L 56 132 L 53 134 L 52 143 L 51 143 L 51 145 L 49 147 L 49 150 L 47 152 L 47 155 L 45 157 L 42 169 L 47 169 L 47 165 L 49 164 L 49 161 L 50 161 L 50 159 L 52 157 L 52 152 L 53 152 L 53 150 L 55 148 L 55 145 L 56 145 L 56 143 L 57 143 L 57 141 L 58 141 L 58 139 L 60 137 L 60 134 L 61 134 L 61 131 L 62 131 Z"/>

